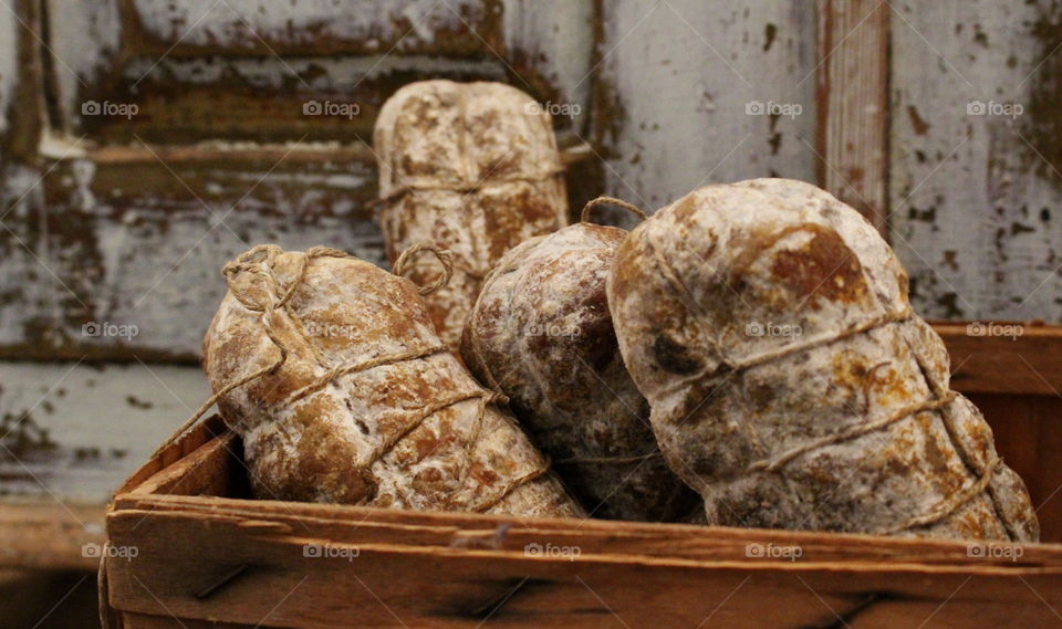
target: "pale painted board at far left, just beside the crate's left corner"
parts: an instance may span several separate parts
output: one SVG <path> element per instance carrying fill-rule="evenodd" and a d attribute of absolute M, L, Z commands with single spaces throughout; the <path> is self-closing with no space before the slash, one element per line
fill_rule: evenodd
<path fill-rule="evenodd" d="M 29 412 L 59 447 L 20 460 L 0 450 L 0 493 L 93 503 L 210 395 L 197 367 L 0 363 L 0 415 Z"/>

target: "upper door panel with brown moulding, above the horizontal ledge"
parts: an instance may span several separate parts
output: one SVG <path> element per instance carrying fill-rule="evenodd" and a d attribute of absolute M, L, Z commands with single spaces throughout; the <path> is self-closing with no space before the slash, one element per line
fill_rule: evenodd
<path fill-rule="evenodd" d="M 541 4 L 52 0 L 60 115 L 96 143 L 371 143 L 384 101 L 425 77 L 585 101 L 558 69 L 587 66 L 590 3 Z M 564 40 L 561 23 L 576 27 Z"/>

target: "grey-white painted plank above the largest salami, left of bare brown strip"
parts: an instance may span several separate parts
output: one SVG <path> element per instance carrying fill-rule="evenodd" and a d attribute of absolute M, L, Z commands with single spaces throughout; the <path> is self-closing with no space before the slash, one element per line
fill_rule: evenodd
<path fill-rule="evenodd" d="M 603 122 L 615 156 L 610 193 L 655 209 L 711 182 L 772 172 L 814 181 L 818 60 L 806 2 L 615 1 L 604 28 L 603 96 L 623 116 L 616 134 Z M 756 103 L 801 108 L 778 118 L 777 154 L 771 117 L 747 113 Z"/>

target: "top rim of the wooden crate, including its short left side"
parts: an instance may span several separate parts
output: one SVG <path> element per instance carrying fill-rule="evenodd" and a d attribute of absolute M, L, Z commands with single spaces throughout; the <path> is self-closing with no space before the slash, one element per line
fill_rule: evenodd
<path fill-rule="evenodd" d="M 189 443 L 200 442 L 206 434 L 217 430 L 210 423 L 199 427 L 189 433 L 183 443 L 175 444 L 170 450 L 188 450 Z M 177 517 L 211 516 L 243 523 L 238 526 L 258 527 L 262 531 L 272 530 L 290 534 L 317 535 L 333 539 L 351 541 L 357 538 L 360 530 L 368 530 L 373 539 L 381 541 L 387 537 L 388 530 L 395 539 L 400 541 L 407 535 L 407 543 L 435 543 L 452 546 L 461 532 L 475 533 L 467 538 L 469 544 L 490 542 L 490 535 L 499 526 L 506 526 L 506 547 L 513 546 L 513 539 L 522 539 L 523 535 L 550 535 L 555 544 L 574 544 L 607 541 L 611 552 L 621 554 L 659 554 L 664 549 L 684 547 L 687 558 L 720 558 L 715 553 L 719 547 L 723 552 L 732 553 L 735 547 L 743 548 L 749 543 L 768 543 L 800 545 L 805 549 L 816 552 L 833 552 L 826 555 L 830 558 L 844 556 L 877 556 L 896 560 L 955 562 L 971 558 L 962 543 L 900 539 L 872 535 L 845 535 L 839 537 L 833 534 L 801 531 L 771 531 L 746 528 L 714 527 L 712 535 L 706 537 L 704 527 L 693 525 L 654 524 L 654 523 L 621 523 L 602 520 L 575 521 L 565 518 L 513 518 L 483 514 L 468 513 L 433 513 L 409 512 L 373 507 L 355 507 L 348 505 L 327 505 L 316 503 L 279 502 L 244 500 L 214 495 L 218 488 L 232 486 L 230 483 L 218 484 L 214 476 L 226 471 L 241 473 L 239 463 L 227 466 L 223 462 L 239 455 L 233 448 L 233 437 L 222 434 L 206 442 L 202 447 L 190 451 L 180 461 L 170 464 L 153 474 L 140 474 L 143 480 L 138 485 L 129 484 L 119 493 L 113 504 L 115 510 L 113 527 L 121 530 L 121 522 L 127 514 L 137 521 L 147 517 L 150 512 L 160 512 L 159 516 L 173 515 Z M 166 454 L 164 453 L 164 457 Z M 155 469 L 157 463 L 146 465 Z M 177 483 L 178 479 L 187 479 Z M 177 492 L 173 495 L 160 495 L 159 491 Z M 184 495 L 181 495 L 181 493 Z M 417 536 L 414 533 L 420 533 Z M 563 539 L 562 539 L 563 538 Z M 837 539 L 844 539 L 844 547 L 837 552 Z M 428 539 L 429 542 L 425 542 Z M 623 545 L 626 546 L 623 546 Z M 517 543 L 516 547 L 522 544 Z M 697 555 L 695 548 L 704 548 L 707 554 Z M 591 548 L 587 548 L 590 552 Z M 731 557 L 731 555 L 723 555 Z M 1051 565 L 1062 559 L 1062 547 L 1033 545 L 1022 557 L 1025 564 L 1041 563 Z M 976 563 L 976 562 L 971 562 Z M 1006 565 L 1006 564 L 1004 564 Z"/>

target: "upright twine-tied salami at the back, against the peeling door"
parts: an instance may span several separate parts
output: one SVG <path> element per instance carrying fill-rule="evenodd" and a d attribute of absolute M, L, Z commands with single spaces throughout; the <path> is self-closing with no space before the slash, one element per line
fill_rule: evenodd
<path fill-rule="evenodd" d="M 373 137 L 391 262 L 417 242 L 454 252 L 449 285 L 425 302 L 439 336 L 457 350 L 494 263 L 516 244 L 568 223 L 550 115 L 501 83 L 423 81 L 384 104 Z M 409 276 L 427 285 L 437 272 L 424 261 Z"/>

